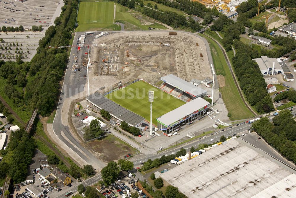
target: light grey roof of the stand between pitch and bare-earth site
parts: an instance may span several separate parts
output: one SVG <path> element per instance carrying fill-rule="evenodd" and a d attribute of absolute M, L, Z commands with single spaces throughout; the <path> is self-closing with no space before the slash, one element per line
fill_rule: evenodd
<path fill-rule="evenodd" d="M 169 85 L 177 87 L 179 90 L 184 91 L 194 97 L 200 97 L 202 95 L 207 94 L 206 90 L 200 87 L 196 87 L 195 85 L 192 85 L 190 82 L 182 80 L 181 78 L 176 77 L 173 74 L 161 77 L 160 80 L 168 83 Z"/>

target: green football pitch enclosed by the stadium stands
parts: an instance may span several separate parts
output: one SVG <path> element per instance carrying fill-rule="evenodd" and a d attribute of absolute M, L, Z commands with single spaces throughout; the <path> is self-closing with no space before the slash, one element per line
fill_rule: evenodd
<path fill-rule="evenodd" d="M 107 98 L 120 104 L 124 108 L 144 117 L 150 121 L 150 102 L 148 101 L 148 91 L 154 91 L 154 102 L 152 102 L 152 123 L 157 125 L 156 119 L 169 111 L 185 104 L 172 95 L 149 85 L 147 82 L 138 81 L 123 89 L 116 90 Z"/>

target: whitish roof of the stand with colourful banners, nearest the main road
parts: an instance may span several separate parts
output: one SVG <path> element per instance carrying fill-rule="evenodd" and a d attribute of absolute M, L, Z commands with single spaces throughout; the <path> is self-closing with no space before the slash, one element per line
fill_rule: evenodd
<path fill-rule="evenodd" d="M 200 108 L 203 108 L 208 105 L 210 105 L 210 103 L 207 100 L 202 99 L 202 98 L 195 98 L 194 100 L 191 100 L 189 103 L 186 103 L 186 104 L 174 109 L 173 111 L 170 111 L 170 112 L 160 116 L 159 118 L 157 118 L 157 121 L 168 126 L 168 125 L 184 118 L 185 116 L 188 116 L 189 114 L 193 113 L 194 111 L 197 111 Z"/>

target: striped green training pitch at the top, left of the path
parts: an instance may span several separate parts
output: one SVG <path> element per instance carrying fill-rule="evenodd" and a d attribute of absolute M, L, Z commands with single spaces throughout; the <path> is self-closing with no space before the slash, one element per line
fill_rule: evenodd
<path fill-rule="evenodd" d="M 110 28 L 113 24 L 114 2 L 80 2 L 76 31 Z"/>

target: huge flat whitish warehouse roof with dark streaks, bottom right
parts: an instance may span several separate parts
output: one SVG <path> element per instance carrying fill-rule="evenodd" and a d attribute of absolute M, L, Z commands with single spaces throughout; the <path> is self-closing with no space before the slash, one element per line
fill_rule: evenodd
<path fill-rule="evenodd" d="M 160 174 L 193 197 L 295 197 L 296 175 L 232 139 Z"/>

